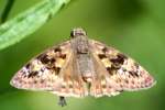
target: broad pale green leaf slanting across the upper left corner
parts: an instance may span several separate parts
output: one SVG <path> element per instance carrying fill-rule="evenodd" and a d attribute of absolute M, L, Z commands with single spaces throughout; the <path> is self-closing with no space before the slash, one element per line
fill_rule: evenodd
<path fill-rule="evenodd" d="M 40 3 L 0 26 L 0 50 L 35 32 L 70 0 L 42 0 Z"/>

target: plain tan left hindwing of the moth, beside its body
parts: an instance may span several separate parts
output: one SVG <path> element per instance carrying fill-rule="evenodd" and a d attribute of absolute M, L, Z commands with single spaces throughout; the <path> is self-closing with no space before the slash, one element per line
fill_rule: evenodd
<path fill-rule="evenodd" d="M 88 95 L 88 89 L 82 80 L 80 73 L 77 68 L 74 54 L 69 59 L 67 66 L 62 70 L 63 77 L 62 89 L 54 89 L 52 92 L 64 97 L 85 97 Z"/>

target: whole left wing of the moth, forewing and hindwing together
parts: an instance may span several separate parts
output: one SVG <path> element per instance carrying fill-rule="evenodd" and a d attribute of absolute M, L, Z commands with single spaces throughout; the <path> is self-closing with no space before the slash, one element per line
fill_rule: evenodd
<path fill-rule="evenodd" d="M 74 69 L 70 42 L 64 42 L 31 59 L 10 84 L 20 89 L 46 90 L 64 97 L 87 95 L 82 79 Z"/>

